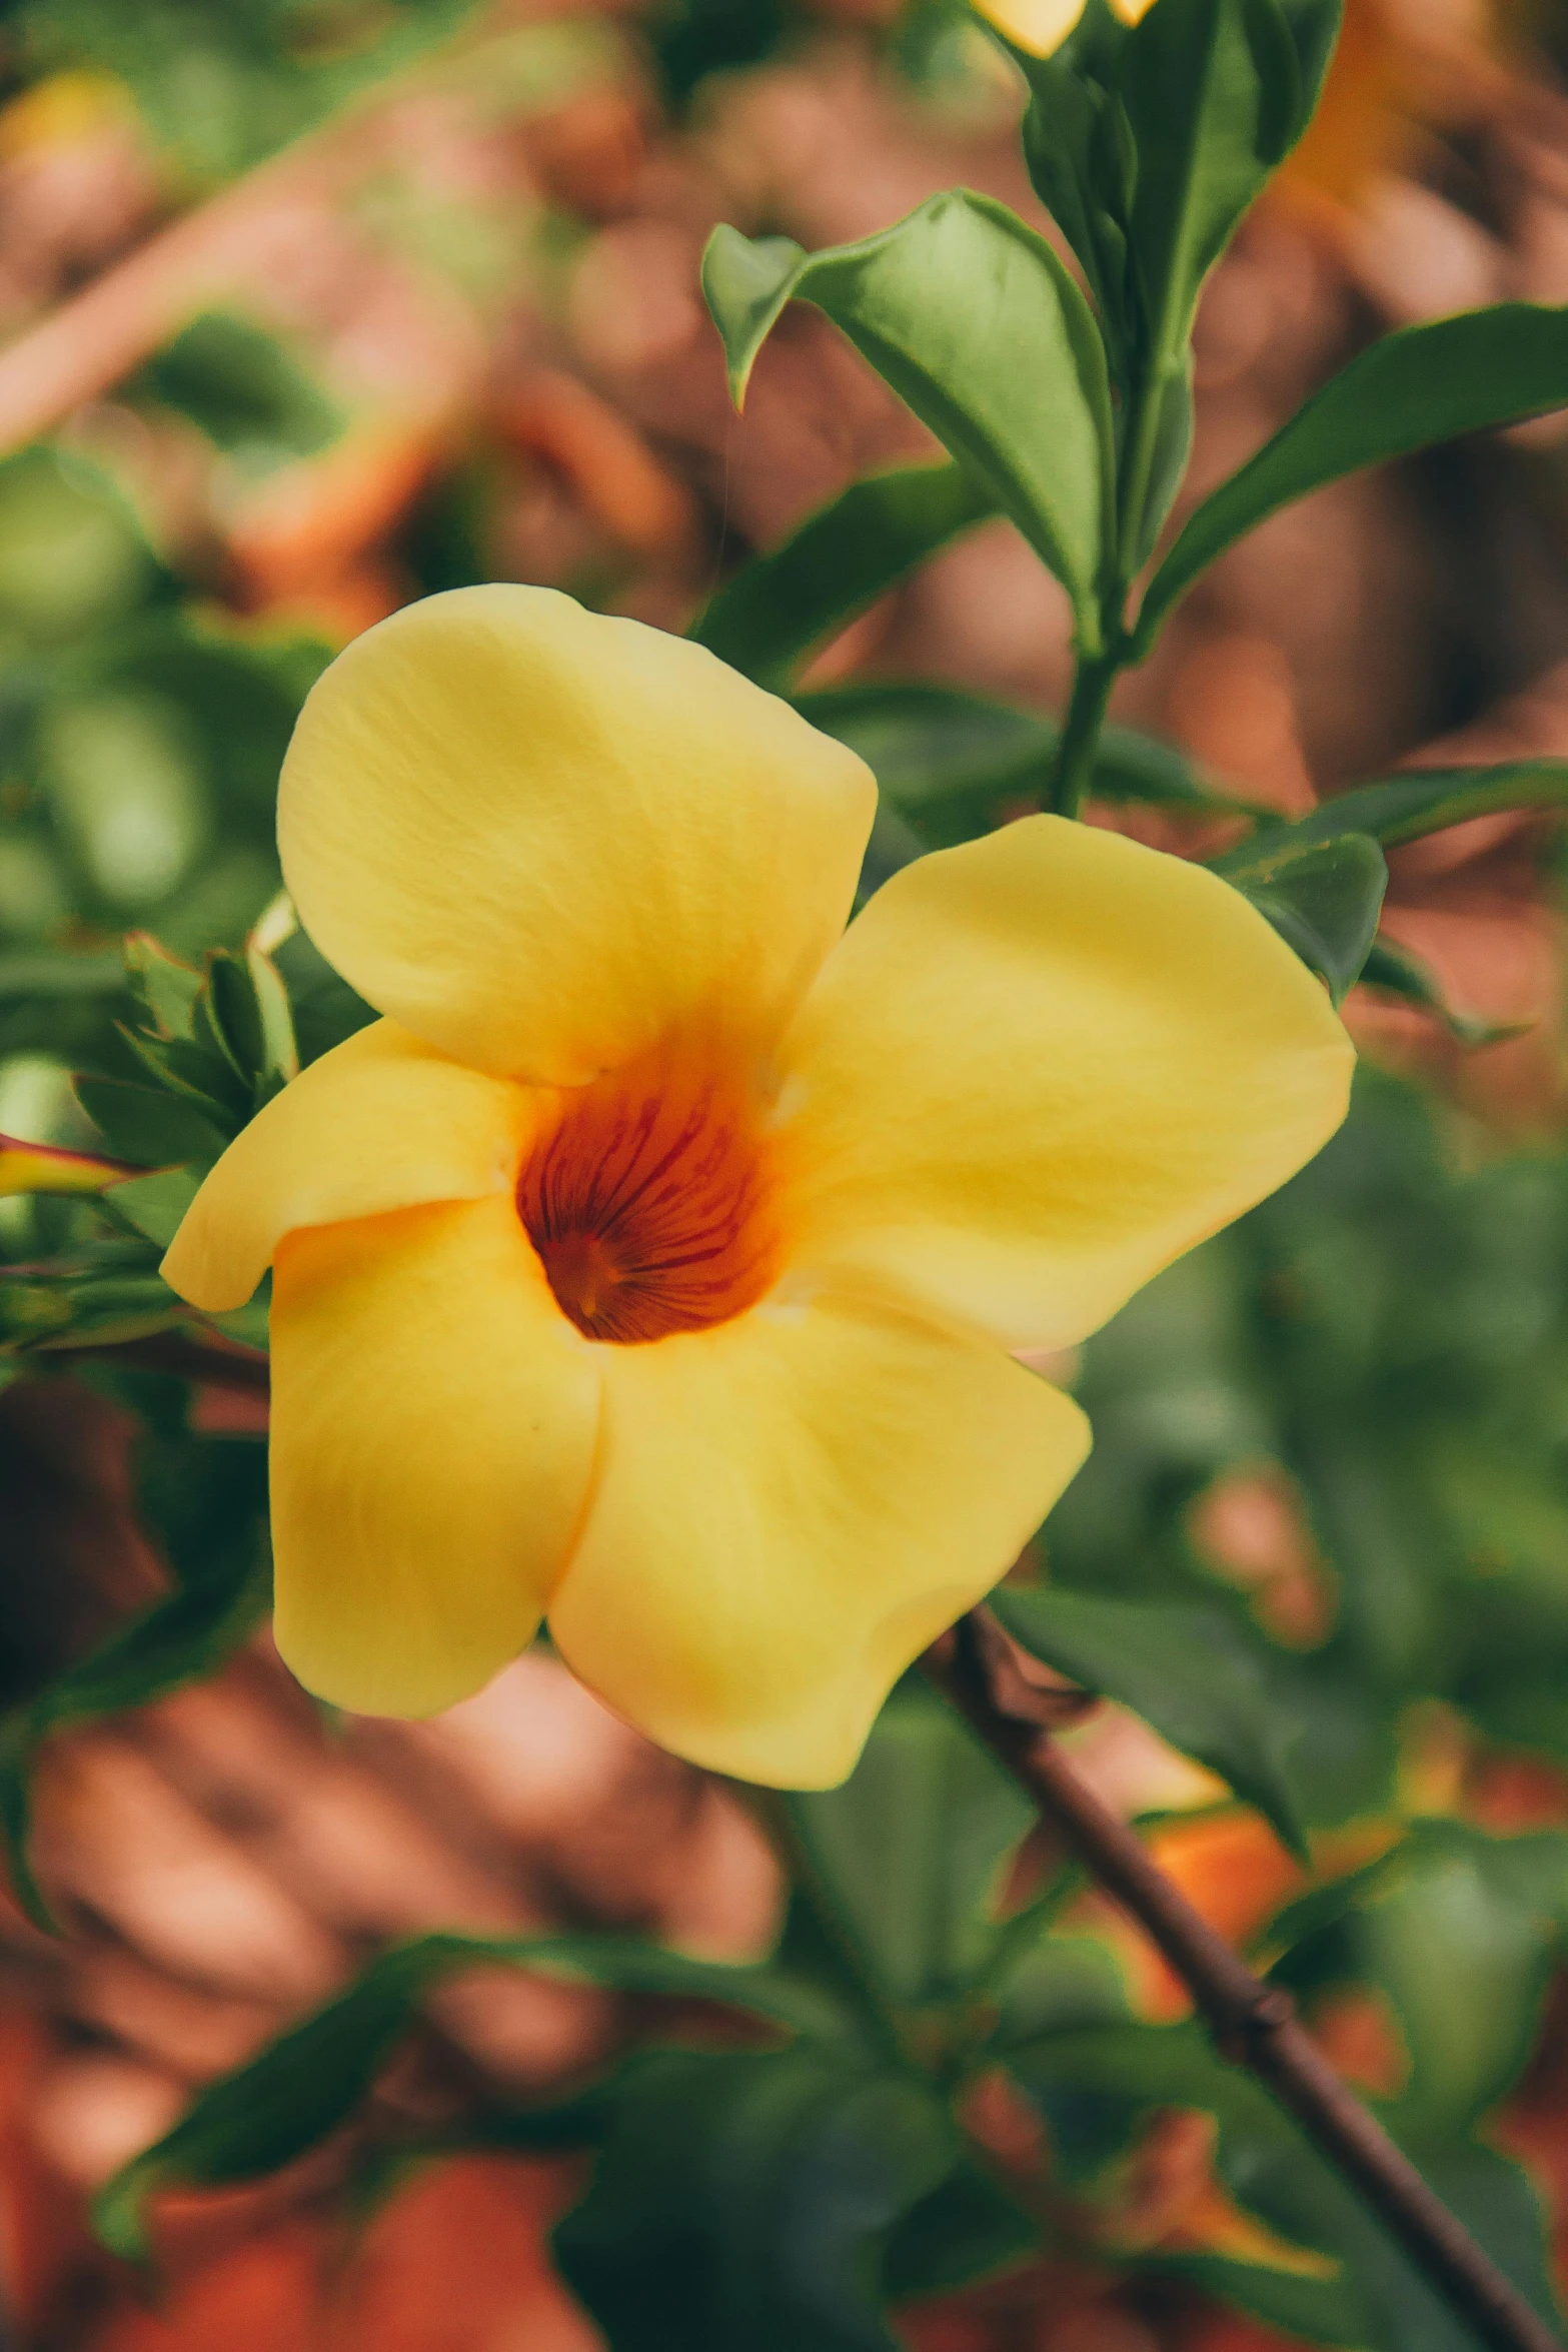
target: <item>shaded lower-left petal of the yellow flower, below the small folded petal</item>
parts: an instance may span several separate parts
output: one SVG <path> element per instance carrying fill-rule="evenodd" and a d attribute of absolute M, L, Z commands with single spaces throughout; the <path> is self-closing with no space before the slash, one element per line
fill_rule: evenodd
<path fill-rule="evenodd" d="M 306 1689 L 435 1715 L 531 1639 L 599 1367 L 510 1200 L 294 1232 L 273 1291 L 275 1637 Z"/>

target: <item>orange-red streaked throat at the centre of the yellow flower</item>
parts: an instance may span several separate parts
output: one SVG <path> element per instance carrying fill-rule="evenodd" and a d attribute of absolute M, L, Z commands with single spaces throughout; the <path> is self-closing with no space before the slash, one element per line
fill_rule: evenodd
<path fill-rule="evenodd" d="M 661 1056 L 562 1094 L 517 1211 L 588 1338 L 628 1345 L 729 1322 L 778 1268 L 757 1110 L 712 1065 Z"/>

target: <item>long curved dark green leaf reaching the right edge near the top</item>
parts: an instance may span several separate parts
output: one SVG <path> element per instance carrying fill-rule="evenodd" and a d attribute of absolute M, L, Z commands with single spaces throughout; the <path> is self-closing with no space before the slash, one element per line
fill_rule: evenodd
<path fill-rule="evenodd" d="M 1159 24 L 1166 0 L 1150 9 Z M 1352 360 L 1187 520 L 1150 581 L 1138 659 L 1215 557 L 1293 499 L 1462 433 L 1568 405 L 1568 308 L 1500 303 L 1406 327 Z"/>

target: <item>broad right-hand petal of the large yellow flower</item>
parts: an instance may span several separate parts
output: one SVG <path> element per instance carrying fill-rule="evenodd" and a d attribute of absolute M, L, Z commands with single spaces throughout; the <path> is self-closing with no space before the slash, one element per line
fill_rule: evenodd
<path fill-rule="evenodd" d="M 783 1058 L 795 1258 L 1009 1348 L 1084 1338 L 1293 1176 L 1354 1068 L 1227 882 L 1058 816 L 893 875 Z"/>

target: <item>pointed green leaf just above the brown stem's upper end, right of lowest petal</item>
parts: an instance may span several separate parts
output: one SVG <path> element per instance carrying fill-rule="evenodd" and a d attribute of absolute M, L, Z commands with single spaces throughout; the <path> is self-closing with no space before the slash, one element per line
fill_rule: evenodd
<path fill-rule="evenodd" d="M 1307 1851 L 1288 1762 L 1300 1726 L 1269 1651 L 1237 1618 L 1053 1585 L 1004 1585 L 990 1606 L 1030 1656 L 1143 1715 L 1255 1804 L 1293 1853 Z"/>

